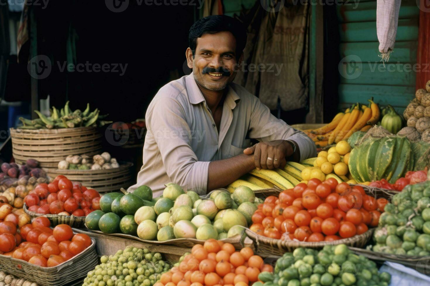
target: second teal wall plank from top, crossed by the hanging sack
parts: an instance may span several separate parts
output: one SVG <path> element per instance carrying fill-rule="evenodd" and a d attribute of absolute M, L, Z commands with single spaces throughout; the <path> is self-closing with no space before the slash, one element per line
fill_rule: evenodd
<path fill-rule="evenodd" d="M 376 21 L 354 22 L 339 25 L 341 42 L 377 42 Z M 396 41 L 418 39 L 418 19 L 399 20 Z"/>

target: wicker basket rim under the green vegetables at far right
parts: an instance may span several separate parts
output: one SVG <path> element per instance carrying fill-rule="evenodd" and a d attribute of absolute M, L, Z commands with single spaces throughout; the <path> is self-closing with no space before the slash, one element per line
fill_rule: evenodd
<path fill-rule="evenodd" d="M 382 252 L 374 252 L 372 250 L 357 248 L 357 247 L 349 247 L 350 250 L 357 254 L 361 254 L 369 259 L 381 261 L 391 261 L 396 262 L 402 265 L 405 265 L 410 268 L 414 268 L 417 271 L 430 275 L 430 255 L 427 256 L 410 256 L 410 255 L 396 255 Z"/>

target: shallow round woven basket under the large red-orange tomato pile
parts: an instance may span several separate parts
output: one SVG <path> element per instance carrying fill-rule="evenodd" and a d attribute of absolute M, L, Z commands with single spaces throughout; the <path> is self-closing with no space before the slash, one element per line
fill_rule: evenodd
<path fill-rule="evenodd" d="M 366 243 L 372 238 L 374 229 L 369 229 L 361 235 L 355 235 L 352 238 L 344 238 L 335 241 L 319 241 L 319 242 L 306 242 L 295 240 L 281 240 L 274 238 L 267 238 L 263 235 L 258 235 L 250 229 L 246 229 L 246 234 L 255 242 L 257 254 L 263 257 L 271 255 L 282 256 L 286 252 L 292 252 L 298 247 L 307 248 L 322 248 L 325 245 L 346 244 L 353 247 L 364 247 Z"/>

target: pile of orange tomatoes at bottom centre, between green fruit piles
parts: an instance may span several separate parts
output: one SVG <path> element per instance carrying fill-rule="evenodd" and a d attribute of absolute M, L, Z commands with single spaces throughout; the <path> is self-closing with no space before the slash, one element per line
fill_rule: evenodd
<path fill-rule="evenodd" d="M 211 238 L 205 244 L 196 244 L 180 262 L 163 273 L 154 286 L 247 286 L 258 280 L 262 271 L 273 272 L 249 247 L 240 251 L 233 244 Z"/>

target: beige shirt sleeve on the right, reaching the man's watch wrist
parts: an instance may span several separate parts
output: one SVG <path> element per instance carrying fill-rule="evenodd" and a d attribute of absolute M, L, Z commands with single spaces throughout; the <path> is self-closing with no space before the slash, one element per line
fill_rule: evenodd
<path fill-rule="evenodd" d="M 300 160 L 316 157 L 316 146 L 304 132 L 294 129 L 270 113 L 270 109 L 256 98 L 252 102 L 249 137 L 258 141 L 292 140 L 300 149 Z"/>

